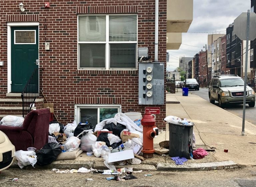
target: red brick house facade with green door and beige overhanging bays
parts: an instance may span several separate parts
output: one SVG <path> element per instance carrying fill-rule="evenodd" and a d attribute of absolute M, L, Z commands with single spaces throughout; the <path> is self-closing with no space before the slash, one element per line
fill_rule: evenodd
<path fill-rule="evenodd" d="M 166 50 L 179 48 L 181 33 L 192 22 L 193 1 L 23 0 L 22 4 L 23 10 L 17 1 L 0 3 L 0 118 L 21 112 L 21 92 L 34 69 L 40 68 L 43 94 L 64 125 L 76 120 L 95 126 L 117 112 L 143 115 L 151 106 L 160 107 L 156 125 L 165 129 L 165 92 L 161 105 L 138 103 L 138 47 L 146 47 L 148 58 L 161 62 L 166 74 Z M 42 108 L 43 102 L 38 97 L 35 108 Z"/>

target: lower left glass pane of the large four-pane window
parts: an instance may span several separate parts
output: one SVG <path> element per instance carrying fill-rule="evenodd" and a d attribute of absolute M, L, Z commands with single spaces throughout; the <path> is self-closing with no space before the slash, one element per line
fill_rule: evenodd
<path fill-rule="evenodd" d="M 79 44 L 80 68 L 105 68 L 105 44 Z"/>

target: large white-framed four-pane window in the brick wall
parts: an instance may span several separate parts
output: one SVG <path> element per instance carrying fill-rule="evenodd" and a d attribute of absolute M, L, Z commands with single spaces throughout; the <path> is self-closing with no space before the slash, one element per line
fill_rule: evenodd
<path fill-rule="evenodd" d="M 78 69 L 137 69 L 137 15 L 78 15 Z"/>

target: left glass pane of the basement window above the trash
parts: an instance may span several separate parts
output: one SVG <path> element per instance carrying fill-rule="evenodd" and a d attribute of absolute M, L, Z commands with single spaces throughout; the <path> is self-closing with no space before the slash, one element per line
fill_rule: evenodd
<path fill-rule="evenodd" d="M 80 110 L 80 122 L 89 122 L 94 127 L 97 125 L 98 109 L 97 108 L 83 108 Z M 77 122 L 79 123 L 79 122 Z"/>

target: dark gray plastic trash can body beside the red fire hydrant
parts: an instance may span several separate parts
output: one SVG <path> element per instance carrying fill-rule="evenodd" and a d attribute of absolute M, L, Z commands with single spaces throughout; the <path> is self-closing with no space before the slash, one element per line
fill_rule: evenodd
<path fill-rule="evenodd" d="M 169 123 L 169 155 L 171 157 L 185 157 L 190 159 L 193 147 L 193 126 Z M 193 148 L 192 148 L 193 149 Z"/>

